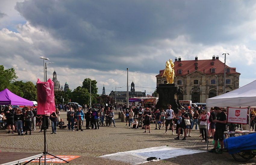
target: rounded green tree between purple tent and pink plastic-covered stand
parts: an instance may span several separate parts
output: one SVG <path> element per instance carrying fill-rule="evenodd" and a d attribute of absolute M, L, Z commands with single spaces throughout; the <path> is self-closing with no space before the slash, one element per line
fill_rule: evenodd
<path fill-rule="evenodd" d="M 33 82 L 31 82 L 31 81 L 25 82 L 24 86 L 22 88 L 22 91 L 24 93 L 23 98 L 30 100 L 30 101 L 37 100 L 36 85 L 34 85 Z"/>

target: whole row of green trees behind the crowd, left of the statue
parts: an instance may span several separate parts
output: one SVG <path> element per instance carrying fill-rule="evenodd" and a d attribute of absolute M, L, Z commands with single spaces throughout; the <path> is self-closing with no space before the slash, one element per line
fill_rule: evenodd
<path fill-rule="evenodd" d="M 37 100 L 37 91 L 36 85 L 33 82 L 27 81 L 17 81 L 18 77 L 16 76 L 14 68 L 4 69 L 3 65 L 0 65 L 0 91 L 8 88 L 14 94 L 23 97 L 30 101 Z M 82 86 L 78 86 L 73 91 L 68 90 L 64 91 L 55 91 L 55 103 L 56 104 L 67 104 L 70 100 L 71 102 L 77 102 L 80 105 L 90 104 L 90 81 L 91 81 L 91 101 L 92 104 L 100 103 L 106 104 L 111 102 L 114 103 L 114 99 L 109 96 L 103 95 L 99 96 L 97 94 L 97 81 L 86 78 L 83 81 Z M 64 99 L 64 102 L 63 102 Z"/>

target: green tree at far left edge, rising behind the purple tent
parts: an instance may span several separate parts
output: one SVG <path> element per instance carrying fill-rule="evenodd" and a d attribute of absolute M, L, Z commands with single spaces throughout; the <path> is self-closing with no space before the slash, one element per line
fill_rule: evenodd
<path fill-rule="evenodd" d="M 17 78 L 14 68 L 5 69 L 3 65 L 0 65 L 0 91 L 5 88 L 14 89 L 11 83 Z"/>

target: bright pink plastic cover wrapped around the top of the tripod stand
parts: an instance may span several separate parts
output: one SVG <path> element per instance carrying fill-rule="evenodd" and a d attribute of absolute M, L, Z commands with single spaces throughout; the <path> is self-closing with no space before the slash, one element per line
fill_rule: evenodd
<path fill-rule="evenodd" d="M 41 82 L 37 79 L 37 114 L 50 115 L 55 112 L 55 100 L 53 81 L 48 79 L 47 82 Z"/>

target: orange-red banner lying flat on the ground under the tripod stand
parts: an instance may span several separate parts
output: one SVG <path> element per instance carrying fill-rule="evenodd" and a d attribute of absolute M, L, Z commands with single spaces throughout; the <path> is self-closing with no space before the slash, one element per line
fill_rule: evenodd
<path fill-rule="evenodd" d="M 73 159 L 75 159 L 75 158 L 79 158 L 80 156 L 74 156 L 74 155 L 56 155 L 56 157 L 58 157 L 58 158 L 61 158 L 61 159 L 63 159 L 63 160 L 65 160 L 65 161 L 71 161 L 71 160 L 73 160 Z M 51 155 L 46 155 L 46 162 L 47 163 L 66 163 L 65 161 L 62 161 L 62 160 L 60 160 L 60 159 L 58 159 L 58 158 L 54 158 L 53 156 L 51 156 Z M 43 158 L 41 158 L 41 162 L 45 162 L 44 161 L 44 157 Z M 26 162 L 28 162 L 28 161 L 26 161 Z M 31 162 L 37 162 L 37 163 L 39 163 L 39 158 L 37 158 L 37 159 L 35 159 L 35 160 L 33 160 L 33 161 L 31 161 Z"/>

